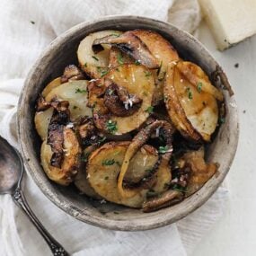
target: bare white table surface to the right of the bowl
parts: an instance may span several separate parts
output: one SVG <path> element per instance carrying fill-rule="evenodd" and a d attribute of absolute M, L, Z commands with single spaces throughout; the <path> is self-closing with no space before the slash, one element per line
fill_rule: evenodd
<path fill-rule="evenodd" d="M 256 255 L 256 35 L 220 52 L 203 23 L 199 40 L 223 66 L 234 89 L 240 138 L 226 177 L 230 200 L 225 214 L 199 243 L 193 256 L 253 256 Z"/>

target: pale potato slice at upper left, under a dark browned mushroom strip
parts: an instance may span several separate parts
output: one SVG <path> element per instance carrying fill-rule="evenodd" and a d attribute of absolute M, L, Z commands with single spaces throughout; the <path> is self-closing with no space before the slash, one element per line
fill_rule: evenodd
<path fill-rule="evenodd" d="M 93 77 L 101 78 L 108 70 L 110 45 L 102 44 L 103 50 L 95 53 L 93 41 L 110 35 L 121 34 L 120 31 L 98 31 L 89 34 L 82 40 L 77 49 L 77 57 L 84 72 Z"/>

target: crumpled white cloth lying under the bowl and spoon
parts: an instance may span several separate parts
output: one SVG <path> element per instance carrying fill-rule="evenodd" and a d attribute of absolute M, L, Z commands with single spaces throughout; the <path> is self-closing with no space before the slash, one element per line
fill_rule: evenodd
<path fill-rule="evenodd" d="M 0 135 L 16 147 L 15 112 L 24 78 L 51 40 L 73 25 L 109 14 L 134 14 L 172 22 L 193 32 L 200 21 L 197 0 L 1 0 Z M 1 145 L 0 145 L 1 146 Z M 26 176 L 25 195 L 51 234 L 75 256 L 190 255 L 222 215 L 227 190 L 173 225 L 145 232 L 115 232 L 86 225 L 53 205 Z M 40 234 L 10 196 L 0 197 L 0 255 L 51 255 Z"/>

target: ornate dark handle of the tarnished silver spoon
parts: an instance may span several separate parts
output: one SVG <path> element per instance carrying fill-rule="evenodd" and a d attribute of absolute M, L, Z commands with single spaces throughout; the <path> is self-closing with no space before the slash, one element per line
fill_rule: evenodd
<path fill-rule="evenodd" d="M 43 225 L 41 225 L 39 219 L 34 215 L 34 213 L 31 210 L 31 207 L 29 207 L 27 200 L 24 197 L 24 194 L 22 193 L 22 190 L 20 188 L 17 188 L 13 193 L 13 200 L 14 202 L 22 208 L 24 213 L 26 213 L 27 216 L 29 216 L 31 222 L 36 226 L 46 243 L 49 244 L 49 248 L 54 256 L 68 256 L 68 252 L 59 244 L 57 241 L 49 234 L 49 232 L 44 228 Z"/>

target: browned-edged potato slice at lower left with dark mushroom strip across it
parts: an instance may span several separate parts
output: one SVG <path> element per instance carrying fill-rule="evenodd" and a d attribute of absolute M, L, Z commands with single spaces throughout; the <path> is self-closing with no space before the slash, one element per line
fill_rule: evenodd
<path fill-rule="evenodd" d="M 75 137 L 75 132 L 71 128 L 64 128 L 64 151 L 65 156 L 61 168 L 50 165 L 52 151 L 50 146 L 43 142 L 41 146 L 41 164 L 51 181 L 60 185 L 69 185 L 75 177 L 80 164 L 81 148 Z"/>

